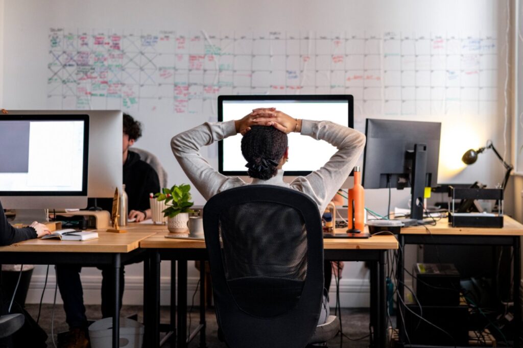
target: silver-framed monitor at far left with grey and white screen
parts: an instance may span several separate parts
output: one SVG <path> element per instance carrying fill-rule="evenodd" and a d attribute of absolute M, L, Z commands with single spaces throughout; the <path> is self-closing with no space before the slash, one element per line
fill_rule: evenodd
<path fill-rule="evenodd" d="M 44 208 L 85 206 L 88 140 L 88 115 L 0 116 L 0 200 L 21 209 L 17 221 L 46 219 Z"/>

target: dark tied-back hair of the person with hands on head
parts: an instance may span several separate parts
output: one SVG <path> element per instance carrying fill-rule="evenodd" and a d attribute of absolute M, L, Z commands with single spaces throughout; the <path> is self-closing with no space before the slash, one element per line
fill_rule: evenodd
<path fill-rule="evenodd" d="M 251 126 L 242 138 L 242 154 L 249 177 L 262 180 L 274 177 L 287 143 L 287 134 L 274 127 Z"/>

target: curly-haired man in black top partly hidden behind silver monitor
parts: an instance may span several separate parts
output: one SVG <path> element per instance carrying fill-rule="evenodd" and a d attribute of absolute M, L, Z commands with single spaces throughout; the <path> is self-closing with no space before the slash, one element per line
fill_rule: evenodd
<path fill-rule="evenodd" d="M 149 164 L 140 159 L 140 155 L 129 148 L 142 136 L 141 123 L 131 115 L 123 114 L 122 136 L 122 164 L 123 184 L 126 185 L 128 196 L 129 219 L 142 222 L 151 218 L 149 194 L 160 192 L 160 180 L 156 171 Z M 111 199 L 98 199 L 103 210 L 112 210 Z M 101 314 L 103 318 L 113 315 L 113 294 L 115 278 L 112 268 L 100 268 L 101 282 Z M 82 281 L 80 280 L 81 266 L 57 265 L 56 277 L 60 295 L 64 303 L 65 321 L 69 324 L 69 333 L 61 347 L 86 348 L 89 345 L 87 338 L 87 316 L 85 315 Z M 122 304 L 125 285 L 124 267 L 120 268 L 120 306 Z"/>

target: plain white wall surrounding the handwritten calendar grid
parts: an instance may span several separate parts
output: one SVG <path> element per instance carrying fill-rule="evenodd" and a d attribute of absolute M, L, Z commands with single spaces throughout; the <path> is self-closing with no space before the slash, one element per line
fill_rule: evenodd
<path fill-rule="evenodd" d="M 479 180 L 492 187 L 501 181 L 503 170 L 492 153 L 485 153 L 474 166 L 464 168 L 459 158 L 469 147 L 479 147 L 492 139 L 500 152 L 504 152 L 503 140 L 503 84 L 504 84 L 504 30 L 507 1 L 431 1 L 413 0 L 379 1 L 315 1 L 304 4 L 298 0 L 281 2 L 242 2 L 224 0 L 193 2 L 151 0 L 94 0 L 71 2 L 53 0 L 37 2 L 0 0 L 0 105 L 13 109 L 47 108 L 48 33 L 50 27 L 112 29 L 112 30 L 214 30 L 233 31 L 238 28 L 249 31 L 270 30 L 321 30 L 339 31 L 365 28 L 383 31 L 494 30 L 498 32 L 498 81 L 496 112 L 485 115 L 431 115 L 385 117 L 405 120 L 442 122 L 440 181 L 474 182 Z M 485 28 L 482 24 L 492 24 Z M 3 26 L 2 26 L 3 25 Z M 2 41 L 3 29 L 8 32 Z M 3 46 L 2 46 L 3 43 Z M 3 62 L 2 62 L 3 59 Z M 2 69 L 4 75 L 2 75 Z M 2 90 L 2 83 L 4 88 Z M 215 115 L 189 115 L 177 117 L 173 112 L 139 110 L 133 114 L 143 122 L 144 135 L 137 146 L 150 150 L 160 157 L 166 167 L 170 182 L 187 182 L 170 152 L 168 143 L 172 135 L 186 130 Z M 215 148 L 209 150 L 209 161 L 217 165 Z M 207 153 L 206 153 L 207 155 Z M 456 165 L 456 161 L 458 164 Z M 196 203 L 202 204 L 201 196 L 195 194 Z M 406 207 L 408 192 L 393 191 L 392 206 Z M 386 190 L 368 190 L 368 206 L 386 214 Z M 415 252 L 409 252 L 407 267 L 415 262 Z M 194 289 L 197 273 L 189 272 L 189 293 Z M 126 267 L 126 303 L 141 303 L 140 264 Z M 168 303 L 169 263 L 162 264 L 162 303 Z M 31 284 L 29 301 L 39 299 L 43 285 L 44 268 L 37 266 Z M 53 277 L 48 284 L 53 289 Z M 82 279 L 86 287 L 86 303 L 98 303 L 100 272 L 85 269 Z M 342 305 L 368 305 L 368 272 L 361 263 L 346 265 L 342 279 Z M 191 293 L 192 295 L 192 293 Z M 198 297 L 197 297 L 198 298 Z M 51 300 L 51 293 L 46 294 Z M 190 298 L 189 298 L 190 300 Z"/>

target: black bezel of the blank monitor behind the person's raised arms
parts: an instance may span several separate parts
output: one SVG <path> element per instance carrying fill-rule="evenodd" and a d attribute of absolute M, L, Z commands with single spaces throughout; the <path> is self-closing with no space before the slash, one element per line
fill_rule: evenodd
<path fill-rule="evenodd" d="M 354 129 L 354 97 L 348 94 L 328 94 L 328 95 L 234 95 L 234 96 L 218 96 L 218 121 L 223 122 L 223 102 L 224 101 L 257 101 L 257 100 L 343 100 L 348 102 L 348 125 L 349 128 Z M 247 171 L 240 170 L 223 170 L 223 140 L 218 142 L 218 171 L 226 176 L 248 176 Z M 312 171 L 305 170 L 291 170 L 284 171 L 284 176 L 305 176 Z"/>

